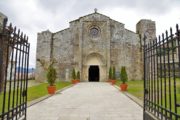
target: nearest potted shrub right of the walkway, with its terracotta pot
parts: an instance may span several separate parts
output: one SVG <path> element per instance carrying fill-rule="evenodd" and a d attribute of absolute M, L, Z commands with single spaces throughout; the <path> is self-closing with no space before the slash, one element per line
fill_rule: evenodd
<path fill-rule="evenodd" d="M 124 66 L 121 68 L 120 78 L 122 81 L 122 84 L 120 85 L 121 91 L 126 91 L 128 87 L 128 85 L 126 84 L 128 76 L 126 73 L 126 68 Z"/>

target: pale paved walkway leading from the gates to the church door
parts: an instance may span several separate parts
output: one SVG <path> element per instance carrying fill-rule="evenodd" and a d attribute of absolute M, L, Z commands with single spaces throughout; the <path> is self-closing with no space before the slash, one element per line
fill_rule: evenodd
<path fill-rule="evenodd" d="M 28 108 L 28 120 L 142 120 L 143 110 L 108 83 L 79 83 Z"/>

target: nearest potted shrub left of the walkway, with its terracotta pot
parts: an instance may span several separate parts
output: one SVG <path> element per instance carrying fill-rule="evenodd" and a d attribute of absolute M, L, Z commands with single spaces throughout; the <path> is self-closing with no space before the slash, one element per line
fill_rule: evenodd
<path fill-rule="evenodd" d="M 55 86 L 56 74 L 57 74 L 56 69 L 54 69 L 54 67 L 51 64 L 48 67 L 48 72 L 47 72 L 47 81 L 49 83 L 47 89 L 49 94 L 55 94 L 56 92 L 56 86 Z"/>

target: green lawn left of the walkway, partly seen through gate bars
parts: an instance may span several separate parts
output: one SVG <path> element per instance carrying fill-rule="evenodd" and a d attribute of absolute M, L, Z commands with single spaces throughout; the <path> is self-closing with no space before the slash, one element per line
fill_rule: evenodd
<path fill-rule="evenodd" d="M 71 82 L 57 82 L 56 88 L 59 90 L 69 85 L 71 85 Z M 47 86 L 48 86 L 48 83 L 41 83 L 39 85 L 29 87 L 28 88 L 28 102 L 35 100 L 37 98 L 40 98 L 42 96 L 48 95 Z M 12 98 L 12 93 L 11 93 L 11 98 Z M 6 94 L 6 99 L 8 99 L 8 94 Z M 15 99 L 16 99 L 16 96 L 15 96 Z M 11 99 L 11 103 L 12 103 L 12 99 Z M 2 113 L 2 104 L 3 104 L 3 94 L 1 93 L 0 94 L 0 114 Z M 7 102 L 6 102 L 6 108 L 7 108 Z"/>

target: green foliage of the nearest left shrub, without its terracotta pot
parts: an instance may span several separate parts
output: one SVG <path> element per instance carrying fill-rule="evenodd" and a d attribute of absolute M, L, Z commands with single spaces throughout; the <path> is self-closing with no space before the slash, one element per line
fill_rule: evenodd
<path fill-rule="evenodd" d="M 56 81 L 56 69 L 52 65 L 48 67 L 48 72 L 47 72 L 47 81 L 50 86 L 54 85 Z"/>

